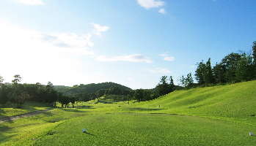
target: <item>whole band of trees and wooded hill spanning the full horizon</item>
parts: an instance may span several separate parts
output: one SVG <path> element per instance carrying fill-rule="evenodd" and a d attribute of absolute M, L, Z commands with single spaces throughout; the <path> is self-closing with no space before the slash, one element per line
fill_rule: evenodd
<path fill-rule="evenodd" d="M 21 108 L 25 101 L 37 101 L 56 106 L 56 101 L 65 105 L 75 101 L 89 101 L 99 99 L 101 96 L 112 96 L 114 100 L 148 101 L 164 96 L 175 90 L 187 90 L 213 85 L 225 85 L 235 82 L 244 82 L 256 79 L 256 42 L 253 42 L 252 51 L 245 53 L 230 53 L 215 66 L 211 66 L 211 58 L 206 63 L 197 63 L 194 77 L 192 73 L 180 76 L 179 85 L 174 85 L 172 76 L 162 76 L 160 82 L 153 89 L 136 89 L 125 87 L 114 82 L 102 82 L 98 84 L 62 85 L 21 84 L 21 76 L 15 74 L 12 83 L 3 82 L 0 76 L 0 104 L 12 102 Z M 194 79 L 197 82 L 194 82 Z"/>

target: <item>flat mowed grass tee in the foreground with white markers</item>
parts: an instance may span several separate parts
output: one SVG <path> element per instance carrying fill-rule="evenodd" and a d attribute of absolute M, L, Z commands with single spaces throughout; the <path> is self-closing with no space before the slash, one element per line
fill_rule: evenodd
<path fill-rule="evenodd" d="M 98 114 L 67 120 L 34 145 L 255 145 L 249 131 L 256 127 L 186 115 Z"/>

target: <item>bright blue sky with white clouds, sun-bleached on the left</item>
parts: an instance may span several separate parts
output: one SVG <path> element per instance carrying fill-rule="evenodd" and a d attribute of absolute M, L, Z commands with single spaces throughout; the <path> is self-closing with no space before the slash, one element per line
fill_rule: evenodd
<path fill-rule="evenodd" d="M 0 0 L 0 75 L 11 82 L 155 88 L 256 40 L 256 1 Z"/>

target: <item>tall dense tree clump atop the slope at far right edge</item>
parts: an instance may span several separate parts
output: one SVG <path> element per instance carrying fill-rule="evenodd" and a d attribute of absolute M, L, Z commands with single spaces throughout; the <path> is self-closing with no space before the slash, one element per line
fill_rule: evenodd
<path fill-rule="evenodd" d="M 216 66 L 211 66 L 211 58 L 206 64 L 197 63 L 195 79 L 197 85 L 215 85 L 224 83 L 244 82 L 256 79 L 256 41 L 253 42 L 252 51 L 245 53 L 230 53 Z"/>

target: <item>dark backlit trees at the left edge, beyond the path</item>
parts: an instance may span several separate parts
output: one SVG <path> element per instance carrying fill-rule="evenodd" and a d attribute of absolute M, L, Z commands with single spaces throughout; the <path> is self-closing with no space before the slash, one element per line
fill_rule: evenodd
<path fill-rule="evenodd" d="M 56 106 L 56 101 L 62 104 L 62 107 L 70 102 L 75 103 L 76 99 L 70 96 L 65 96 L 63 93 L 54 90 L 51 82 L 47 85 L 36 84 L 20 84 L 21 76 L 15 74 L 15 79 L 12 83 L 3 83 L 4 79 L 0 76 L 0 104 L 4 105 L 10 101 L 16 104 L 17 108 L 21 108 L 25 101 L 37 101 L 43 104 L 51 104 Z"/>

